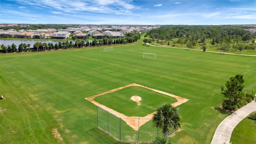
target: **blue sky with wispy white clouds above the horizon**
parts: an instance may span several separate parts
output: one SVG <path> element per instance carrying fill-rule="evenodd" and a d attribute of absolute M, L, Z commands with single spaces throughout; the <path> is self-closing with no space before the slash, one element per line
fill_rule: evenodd
<path fill-rule="evenodd" d="M 256 0 L 0 0 L 0 23 L 256 24 Z"/>

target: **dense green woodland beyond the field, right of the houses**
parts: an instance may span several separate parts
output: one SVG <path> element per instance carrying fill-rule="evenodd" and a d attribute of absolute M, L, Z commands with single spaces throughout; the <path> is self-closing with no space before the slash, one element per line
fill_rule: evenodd
<path fill-rule="evenodd" d="M 170 44 L 172 46 L 179 43 L 181 46 L 194 48 L 196 45 L 202 46 L 205 50 L 206 39 L 211 41 L 212 47 L 218 48 L 220 51 L 228 51 L 233 48 L 234 51 L 254 50 L 256 33 L 239 28 L 236 26 L 162 26 L 158 29 L 150 30 L 145 37 L 150 37 L 146 42 L 156 42 L 160 44 Z M 251 42 L 251 43 L 250 43 Z M 246 44 L 247 43 L 247 44 Z"/>

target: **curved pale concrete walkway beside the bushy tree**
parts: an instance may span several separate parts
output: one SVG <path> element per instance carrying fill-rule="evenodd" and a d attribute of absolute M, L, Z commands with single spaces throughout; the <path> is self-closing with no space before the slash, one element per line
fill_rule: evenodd
<path fill-rule="evenodd" d="M 250 113 L 255 111 L 256 102 L 253 100 L 252 102 L 246 104 L 234 113 L 230 114 L 217 127 L 211 144 L 229 144 L 232 131 L 234 130 L 236 125 Z"/>

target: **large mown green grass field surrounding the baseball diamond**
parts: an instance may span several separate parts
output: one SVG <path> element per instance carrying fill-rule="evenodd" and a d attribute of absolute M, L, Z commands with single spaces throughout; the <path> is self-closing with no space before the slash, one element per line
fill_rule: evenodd
<path fill-rule="evenodd" d="M 84 98 L 137 83 L 189 99 L 179 106 L 182 130 L 170 138 L 174 144 L 209 144 L 229 114 L 218 108 L 221 86 L 236 74 L 244 75 L 244 92 L 256 86 L 256 57 L 145 46 L 142 40 L 112 47 L 0 54 L 0 142 L 61 143 L 52 134 L 57 129 L 63 143 L 117 143 L 96 128 L 96 106 Z M 144 52 L 156 58 L 144 59 Z M 143 127 L 152 129 L 152 123 Z"/>

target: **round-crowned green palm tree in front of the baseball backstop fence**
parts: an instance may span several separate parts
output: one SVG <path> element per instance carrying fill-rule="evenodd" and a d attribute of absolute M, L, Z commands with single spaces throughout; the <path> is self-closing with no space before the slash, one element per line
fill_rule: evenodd
<path fill-rule="evenodd" d="M 162 128 L 163 136 L 168 136 L 169 128 L 178 129 L 180 125 L 180 114 L 170 103 L 164 103 L 156 109 L 153 115 L 153 125 Z"/>

